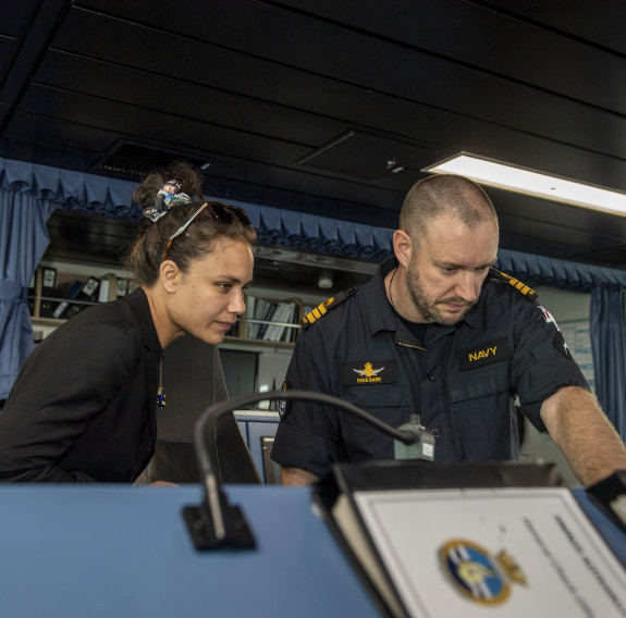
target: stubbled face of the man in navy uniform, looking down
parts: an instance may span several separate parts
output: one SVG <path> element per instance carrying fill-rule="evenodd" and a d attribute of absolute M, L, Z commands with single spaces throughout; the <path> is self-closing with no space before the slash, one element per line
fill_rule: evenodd
<path fill-rule="evenodd" d="M 432 221 L 406 273 L 408 294 L 420 321 L 447 326 L 459 322 L 478 300 L 496 257 L 495 221 L 474 228 L 450 214 Z"/>

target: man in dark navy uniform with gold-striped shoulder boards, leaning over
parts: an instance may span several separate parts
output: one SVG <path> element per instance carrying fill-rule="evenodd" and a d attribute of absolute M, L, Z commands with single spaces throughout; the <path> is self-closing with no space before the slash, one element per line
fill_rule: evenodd
<path fill-rule="evenodd" d="M 491 268 L 499 225 L 487 194 L 462 176 L 427 177 L 408 193 L 400 227 L 395 260 L 308 314 L 285 387 L 341 397 L 395 428 L 417 415 L 435 461 L 516 459 L 518 396 L 582 484 L 626 469 L 553 317 Z M 310 483 L 335 461 L 394 457 L 391 437 L 336 407 L 281 408 L 272 458 L 284 484 Z"/>

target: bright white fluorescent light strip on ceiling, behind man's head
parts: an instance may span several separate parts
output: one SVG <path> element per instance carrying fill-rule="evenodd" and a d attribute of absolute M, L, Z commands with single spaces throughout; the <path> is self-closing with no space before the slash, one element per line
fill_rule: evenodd
<path fill-rule="evenodd" d="M 482 185 L 626 217 L 626 194 L 481 159 L 466 152 L 421 171 L 459 174 Z"/>

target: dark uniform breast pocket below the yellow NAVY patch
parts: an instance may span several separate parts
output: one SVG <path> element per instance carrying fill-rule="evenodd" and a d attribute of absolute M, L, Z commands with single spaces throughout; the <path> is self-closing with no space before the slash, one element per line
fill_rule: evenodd
<path fill-rule="evenodd" d="M 463 460 L 511 458 L 510 390 L 507 362 L 447 379 L 452 437 Z"/>

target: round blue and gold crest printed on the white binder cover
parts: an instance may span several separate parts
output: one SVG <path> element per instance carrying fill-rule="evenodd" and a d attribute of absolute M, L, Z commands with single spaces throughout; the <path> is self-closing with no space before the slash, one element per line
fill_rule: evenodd
<path fill-rule="evenodd" d="M 503 603 L 513 582 L 526 585 L 521 569 L 506 552 L 491 555 L 465 539 L 446 542 L 439 551 L 439 559 L 454 588 L 475 603 Z"/>

